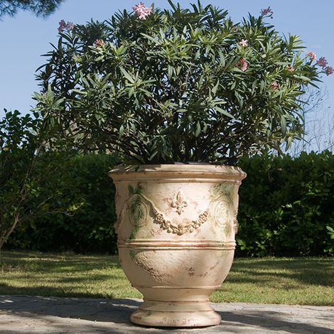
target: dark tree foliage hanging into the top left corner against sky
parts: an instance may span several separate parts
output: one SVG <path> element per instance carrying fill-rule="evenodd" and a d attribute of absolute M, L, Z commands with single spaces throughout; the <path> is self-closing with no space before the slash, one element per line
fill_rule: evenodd
<path fill-rule="evenodd" d="M 58 9 L 64 0 L 0 0 L 0 18 L 15 16 L 19 10 L 32 11 L 36 16 L 46 17 Z"/>

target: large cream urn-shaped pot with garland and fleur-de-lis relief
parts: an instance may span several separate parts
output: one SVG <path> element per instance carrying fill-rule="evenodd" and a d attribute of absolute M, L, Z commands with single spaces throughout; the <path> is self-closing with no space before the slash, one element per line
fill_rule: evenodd
<path fill-rule="evenodd" d="M 208 303 L 230 271 L 237 232 L 240 168 L 210 164 L 119 166 L 119 259 L 144 303 L 140 325 L 217 325 Z"/>

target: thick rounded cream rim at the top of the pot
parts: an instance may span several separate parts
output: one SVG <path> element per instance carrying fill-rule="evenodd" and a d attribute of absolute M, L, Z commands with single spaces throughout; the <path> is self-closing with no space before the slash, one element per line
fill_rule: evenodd
<path fill-rule="evenodd" d="M 153 165 L 119 165 L 109 171 L 114 181 L 124 178 L 148 178 L 161 176 L 175 178 L 229 178 L 241 181 L 247 174 L 237 166 L 218 165 L 211 163 L 171 163 Z"/>

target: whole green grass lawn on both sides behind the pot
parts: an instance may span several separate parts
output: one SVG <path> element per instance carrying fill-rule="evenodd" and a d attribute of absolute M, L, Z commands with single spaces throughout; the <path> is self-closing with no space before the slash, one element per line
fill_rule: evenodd
<path fill-rule="evenodd" d="M 117 257 L 38 252 L 0 253 L 0 294 L 141 298 Z M 210 301 L 334 306 L 334 259 L 235 259 Z"/>

